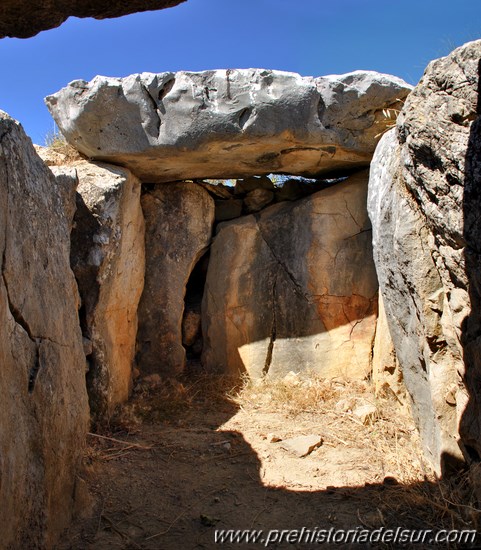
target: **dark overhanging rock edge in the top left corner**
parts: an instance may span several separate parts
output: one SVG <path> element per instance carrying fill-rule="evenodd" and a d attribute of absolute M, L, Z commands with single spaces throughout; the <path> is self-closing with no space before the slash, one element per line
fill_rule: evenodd
<path fill-rule="evenodd" d="M 68 17 L 106 19 L 170 8 L 185 0 L 2 0 L 0 38 L 29 38 L 61 25 Z"/>

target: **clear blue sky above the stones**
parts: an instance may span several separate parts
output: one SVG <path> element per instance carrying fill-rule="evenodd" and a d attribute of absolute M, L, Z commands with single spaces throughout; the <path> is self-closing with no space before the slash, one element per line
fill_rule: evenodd
<path fill-rule="evenodd" d="M 430 60 L 477 38 L 481 0 L 187 0 L 1 40 L 0 109 L 42 144 L 54 128 L 43 98 L 78 78 L 261 67 L 370 69 L 415 84 Z"/>

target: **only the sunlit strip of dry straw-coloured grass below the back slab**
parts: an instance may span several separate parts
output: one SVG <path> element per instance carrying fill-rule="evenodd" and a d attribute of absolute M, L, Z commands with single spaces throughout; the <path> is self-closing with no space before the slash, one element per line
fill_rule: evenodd
<path fill-rule="evenodd" d="M 433 478 L 422 458 L 412 417 L 394 398 L 376 396 L 369 381 L 290 373 L 280 380 L 247 380 L 231 399 L 250 414 L 275 412 L 299 422 L 314 418 L 334 440 L 361 446 L 367 463 L 377 463 L 382 457 L 385 475 L 400 483 Z M 364 406 L 375 410 L 364 417 Z"/>

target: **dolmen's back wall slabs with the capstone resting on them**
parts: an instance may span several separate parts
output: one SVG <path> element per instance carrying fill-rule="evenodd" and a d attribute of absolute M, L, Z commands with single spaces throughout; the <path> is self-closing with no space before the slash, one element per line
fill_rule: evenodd
<path fill-rule="evenodd" d="M 72 146 L 144 184 L 141 374 L 182 373 L 185 346 L 199 359 L 202 343 L 216 372 L 369 374 L 377 280 L 367 177 L 339 181 L 369 163 L 389 124 L 383 109 L 409 91 L 368 71 L 314 79 L 252 69 L 96 77 L 47 98 Z M 269 172 L 297 176 L 275 185 Z M 235 186 L 206 180 L 232 176 Z M 214 230 L 202 308 L 185 312 Z"/>

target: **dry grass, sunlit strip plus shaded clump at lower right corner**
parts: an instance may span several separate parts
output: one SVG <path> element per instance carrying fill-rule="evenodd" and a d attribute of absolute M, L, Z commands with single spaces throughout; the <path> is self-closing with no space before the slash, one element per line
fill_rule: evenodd
<path fill-rule="evenodd" d="M 409 410 L 389 394 L 376 396 L 370 382 L 325 380 L 316 375 L 301 378 L 291 373 L 282 380 L 246 380 L 231 399 L 251 415 L 276 412 L 298 422 L 315 417 L 321 432 L 327 429 L 327 439 L 337 441 L 340 449 L 361 446 L 366 464 L 381 461 L 385 485 L 382 491 L 379 485 L 373 486 L 373 514 L 361 518 L 366 526 L 407 522 L 413 528 L 433 530 L 481 527 L 473 473 L 438 479 L 423 458 Z M 375 405 L 376 413 L 362 422 L 355 410 L 365 403 Z"/>

